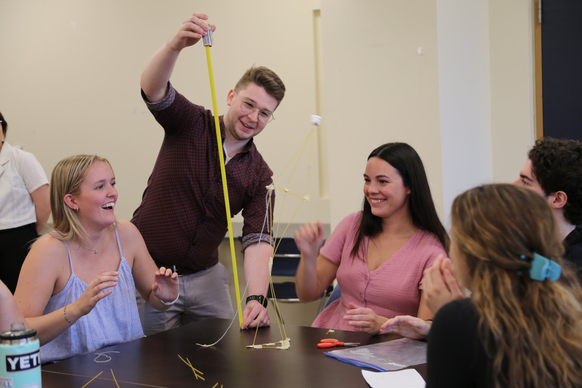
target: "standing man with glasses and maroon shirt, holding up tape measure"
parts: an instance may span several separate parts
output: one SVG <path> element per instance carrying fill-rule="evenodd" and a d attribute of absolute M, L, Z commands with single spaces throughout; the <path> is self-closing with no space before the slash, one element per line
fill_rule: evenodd
<path fill-rule="evenodd" d="M 162 314 L 138 298 L 145 334 L 206 318 L 233 316 L 229 275 L 218 262 L 227 232 L 225 202 L 212 112 L 188 101 L 169 82 L 182 49 L 208 34 L 204 13 L 194 13 L 155 52 L 141 74 L 141 94 L 165 136 L 141 205 L 132 222 L 154 261 L 175 266 L 180 296 Z M 212 31 L 215 26 L 212 26 Z M 272 171 L 253 143 L 273 119 L 285 85 L 266 67 L 251 67 L 228 92 L 219 118 L 230 211 L 242 211 L 244 272 L 248 283 L 242 328 L 269 325 L 267 300 L 270 220 L 265 200 Z M 274 192 L 270 194 L 274 201 Z M 254 266 L 254 269 L 253 269 Z M 251 275 L 252 271 L 252 276 Z"/>

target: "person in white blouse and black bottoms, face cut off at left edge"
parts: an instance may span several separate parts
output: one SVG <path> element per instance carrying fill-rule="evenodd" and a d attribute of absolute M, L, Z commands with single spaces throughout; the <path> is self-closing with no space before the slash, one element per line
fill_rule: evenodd
<path fill-rule="evenodd" d="M 47 175 L 30 152 L 6 140 L 8 123 L 0 113 L 0 280 L 16 290 L 30 244 L 51 213 Z"/>

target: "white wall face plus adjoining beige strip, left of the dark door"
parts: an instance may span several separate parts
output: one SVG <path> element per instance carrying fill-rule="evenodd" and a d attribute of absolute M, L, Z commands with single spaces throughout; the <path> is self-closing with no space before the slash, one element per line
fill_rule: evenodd
<path fill-rule="evenodd" d="M 438 0 L 443 209 L 477 184 L 508 182 L 533 143 L 530 0 Z"/>

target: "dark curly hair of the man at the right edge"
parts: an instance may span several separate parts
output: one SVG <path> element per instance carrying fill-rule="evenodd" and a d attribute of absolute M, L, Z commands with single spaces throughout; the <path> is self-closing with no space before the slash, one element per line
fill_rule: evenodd
<path fill-rule="evenodd" d="M 582 142 L 551 137 L 538 139 L 528 158 L 532 173 L 546 195 L 563 191 L 568 199 L 564 217 L 582 223 Z"/>

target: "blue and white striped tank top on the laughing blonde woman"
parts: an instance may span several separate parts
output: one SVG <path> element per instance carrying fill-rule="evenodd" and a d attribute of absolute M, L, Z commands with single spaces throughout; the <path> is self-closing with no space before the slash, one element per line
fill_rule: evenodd
<path fill-rule="evenodd" d="M 137 312 L 132 269 L 123 257 L 117 226 L 113 224 L 113 227 L 121 257 L 117 286 L 112 288 L 111 294 L 98 301 L 89 314 L 81 316 L 69 329 L 41 346 L 41 362 L 59 361 L 144 336 Z M 65 288 L 49 299 L 43 315 L 73 303 L 87 289 L 87 283 L 74 274 L 69 245 L 65 241 L 63 243 L 69 253 L 71 276 Z"/>

